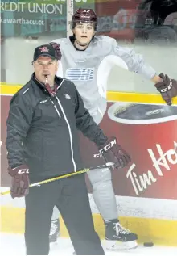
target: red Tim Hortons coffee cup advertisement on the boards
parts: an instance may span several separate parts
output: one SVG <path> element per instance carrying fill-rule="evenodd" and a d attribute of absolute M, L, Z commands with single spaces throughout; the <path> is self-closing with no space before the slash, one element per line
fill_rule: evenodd
<path fill-rule="evenodd" d="M 1 96 L 1 187 L 10 186 L 5 145 L 10 98 Z M 116 195 L 177 199 L 177 106 L 108 103 L 101 128 L 116 136 L 132 159 L 126 168 L 112 170 Z M 80 148 L 86 167 L 102 163 L 88 139 L 81 138 Z"/>

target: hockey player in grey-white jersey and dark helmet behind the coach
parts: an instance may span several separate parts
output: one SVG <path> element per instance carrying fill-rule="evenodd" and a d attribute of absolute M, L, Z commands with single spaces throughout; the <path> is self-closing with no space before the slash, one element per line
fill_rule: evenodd
<path fill-rule="evenodd" d="M 177 83 L 167 76 L 158 76 L 155 70 L 146 64 L 142 56 L 135 54 L 130 48 L 123 48 L 116 40 L 108 36 L 95 36 L 97 31 L 97 15 L 92 9 L 79 9 L 72 17 L 73 36 L 56 39 L 51 45 L 56 48 L 61 46 L 62 69 L 58 75 L 72 80 L 76 84 L 85 107 L 100 124 L 106 111 L 106 80 L 109 75 L 109 65 L 120 60 L 126 62 L 128 69 L 134 73 L 142 74 L 146 79 L 154 82 L 167 104 L 176 96 Z M 109 57 L 104 73 L 98 75 L 98 69 L 104 59 Z M 117 57 L 117 59 L 116 59 Z M 108 58 L 107 58 L 108 59 Z M 117 82 L 118 83 L 118 82 Z M 137 246 L 137 234 L 125 229 L 117 219 L 117 204 L 113 192 L 110 170 L 100 173 L 99 170 L 88 173 L 88 178 L 93 185 L 93 199 L 101 216 L 105 220 L 105 239 L 109 247 L 116 249 L 117 241 L 126 248 Z M 59 230 L 59 212 L 54 208 L 51 221 L 51 241 L 56 241 Z"/>

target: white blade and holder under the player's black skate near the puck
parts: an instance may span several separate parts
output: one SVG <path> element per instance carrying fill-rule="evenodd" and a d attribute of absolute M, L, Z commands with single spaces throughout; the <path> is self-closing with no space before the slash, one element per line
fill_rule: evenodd
<path fill-rule="evenodd" d="M 138 247 L 137 241 L 110 241 L 105 240 L 106 250 L 131 250 Z"/>

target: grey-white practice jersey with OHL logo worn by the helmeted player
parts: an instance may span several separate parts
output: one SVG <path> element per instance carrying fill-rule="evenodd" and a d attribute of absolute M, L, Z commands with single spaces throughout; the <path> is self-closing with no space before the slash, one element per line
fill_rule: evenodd
<path fill-rule="evenodd" d="M 112 63 L 126 62 L 128 69 L 151 79 L 155 70 L 131 48 L 124 48 L 109 36 L 94 36 L 84 51 L 78 51 L 69 38 L 53 40 L 60 44 L 62 58 L 57 76 L 68 78 L 76 85 L 84 106 L 99 124 L 106 111 L 106 86 Z M 101 69 L 101 72 L 99 71 Z"/>

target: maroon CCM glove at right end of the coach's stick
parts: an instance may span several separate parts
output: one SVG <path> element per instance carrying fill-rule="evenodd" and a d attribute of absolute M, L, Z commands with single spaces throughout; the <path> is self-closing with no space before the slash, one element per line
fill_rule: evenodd
<path fill-rule="evenodd" d="M 105 162 L 114 162 L 115 168 L 123 168 L 131 161 L 130 155 L 120 145 L 117 145 L 116 137 L 110 137 L 104 145 L 98 148 Z"/>

